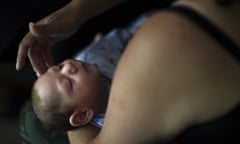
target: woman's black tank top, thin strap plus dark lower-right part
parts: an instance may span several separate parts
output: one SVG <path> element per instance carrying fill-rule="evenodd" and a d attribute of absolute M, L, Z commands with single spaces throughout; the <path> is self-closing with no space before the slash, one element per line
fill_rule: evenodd
<path fill-rule="evenodd" d="M 206 31 L 240 62 L 240 48 L 210 20 L 186 6 L 173 6 L 164 11 L 181 14 Z M 240 105 L 211 122 L 187 129 L 169 144 L 235 144 L 240 143 Z"/>

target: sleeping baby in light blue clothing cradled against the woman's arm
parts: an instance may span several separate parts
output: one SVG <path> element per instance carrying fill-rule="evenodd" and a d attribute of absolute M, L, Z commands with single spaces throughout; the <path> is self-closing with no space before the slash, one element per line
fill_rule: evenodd
<path fill-rule="evenodd" d="M 37 79 L 32 90 L 32 105 L 46 127 L 67 131 L 88 123 L 103 126 L 116 65 L 147 15 L 124 29 L 115 28 L 84 49 L 76 60 L 52 66 Z"/>

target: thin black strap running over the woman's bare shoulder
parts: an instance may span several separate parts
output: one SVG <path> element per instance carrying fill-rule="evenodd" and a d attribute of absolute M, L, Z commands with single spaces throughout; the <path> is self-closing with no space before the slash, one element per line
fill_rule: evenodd
<path fill-rule="evenodd" d="M 203 17 L 196 11 L 186 6 L 173 6 L 166 10 L 183 14 L 194 23 L 207 31 L 210 36 L 215 38 L 230 54 L 232 54 L 240 62 L 240 48 L 228 36 L 226 36 L 219 28 L 217 28 L 207 18 Z"/>

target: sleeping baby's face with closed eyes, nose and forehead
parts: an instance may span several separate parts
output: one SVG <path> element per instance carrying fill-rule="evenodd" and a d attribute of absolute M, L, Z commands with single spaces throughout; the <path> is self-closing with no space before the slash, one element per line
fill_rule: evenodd
<path fill-rule="evenodd" d="M 100 91 L 101 73 L 96 65 L 76 60 L 66 60 L 52 66 L 40 76 L 34 88 L 41 99 L 76 105 L 93 100 L 91 97 Z"/>

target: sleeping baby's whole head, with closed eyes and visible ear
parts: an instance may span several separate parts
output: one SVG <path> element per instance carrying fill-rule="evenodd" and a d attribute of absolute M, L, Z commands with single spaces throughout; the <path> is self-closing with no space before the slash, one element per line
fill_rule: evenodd
<path fill-rule="evenodd" d="M 36 80 L 34 112 L 51 129 L 65 131 L 85 125 L 103 112 L 107 85 L 96 65 L 66 60 Z"/>

